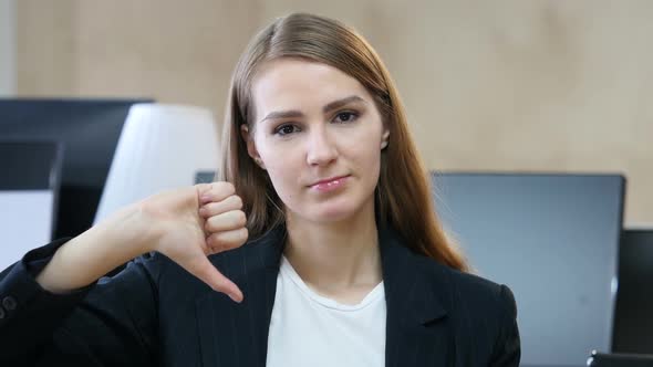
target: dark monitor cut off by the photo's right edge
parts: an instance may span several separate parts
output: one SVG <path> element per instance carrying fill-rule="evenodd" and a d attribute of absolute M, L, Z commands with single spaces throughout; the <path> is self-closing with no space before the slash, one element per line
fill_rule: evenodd
<path fill-rule="evenodd" d="M 619 252 L 613 352 L 653 355 L 653 228 L 625 229 Z"/>

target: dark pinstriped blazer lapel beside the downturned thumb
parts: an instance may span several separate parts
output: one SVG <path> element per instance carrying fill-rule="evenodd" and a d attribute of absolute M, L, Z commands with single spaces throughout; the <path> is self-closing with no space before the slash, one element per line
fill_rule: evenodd
<path fill-rule="evenodd" d="M 242 291 L 241 304 L 217 292 L 197 301 L 203 366 L 266 365 L 284 233 L 284 229 L 276 229 L 226 261 L 232 268 L 224 273 Z"/>

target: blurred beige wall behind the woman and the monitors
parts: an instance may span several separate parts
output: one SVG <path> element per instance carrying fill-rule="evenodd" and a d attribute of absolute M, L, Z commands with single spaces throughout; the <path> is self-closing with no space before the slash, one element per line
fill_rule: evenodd
<path fill-rule="evenodd" d="M 221 115 L 252 33 L 307 10 L 359 29 L 429 168 L 623 172 L 653 226 L 653 2 L 21 0 L 18 93 L 153 96 Z"/>

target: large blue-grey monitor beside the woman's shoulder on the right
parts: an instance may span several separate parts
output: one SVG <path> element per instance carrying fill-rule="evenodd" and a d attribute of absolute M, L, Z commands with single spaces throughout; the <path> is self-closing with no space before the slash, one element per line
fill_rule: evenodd
<path fill-rule="evenodd" d="M 610 350 L 625 179 L 433 174 L 436 211 L 471 265 L 510 286 L 522 366 Z"/>

